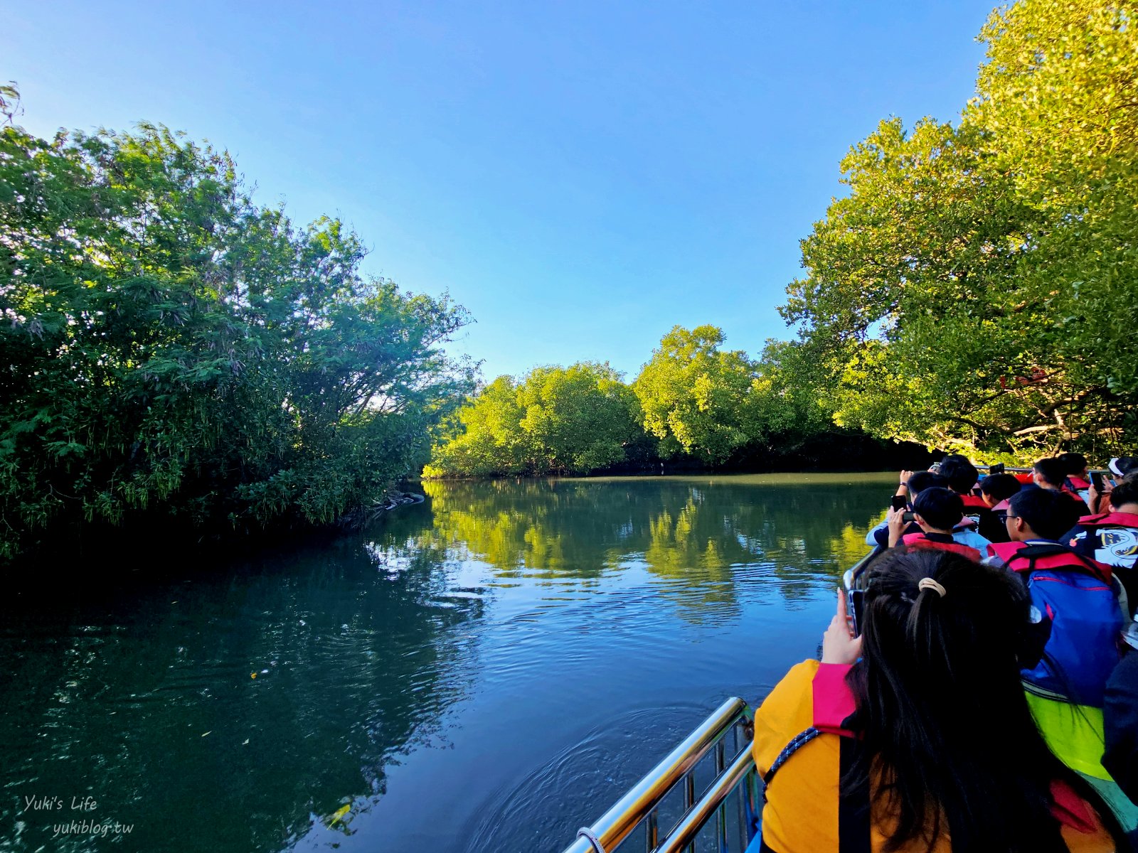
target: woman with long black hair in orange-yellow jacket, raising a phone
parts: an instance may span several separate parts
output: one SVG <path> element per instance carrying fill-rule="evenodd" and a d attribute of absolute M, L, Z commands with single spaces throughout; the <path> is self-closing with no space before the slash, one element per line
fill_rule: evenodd
<path fill-rule="evenodd" d="M 1015 577 L 933 550 L 871 568 L 859 637 L 840 593 L 822 663 L 756 713 L 762 850 L 1129 850 L 1031 718 L 1029 608 Z"/>

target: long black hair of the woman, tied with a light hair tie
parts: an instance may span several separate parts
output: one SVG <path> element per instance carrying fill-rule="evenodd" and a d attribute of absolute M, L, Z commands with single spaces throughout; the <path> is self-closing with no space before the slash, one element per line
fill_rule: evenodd
<path fill-rule="evenodd" d="M 945 595 L 920 589 L 922 578 Z M 887 851 L 921 840 L 931 851 L 947 833 L 955 851 L 1065 853 L 1053 780 L 1096 805 L 1122 842 L 1113 814 L 1031 717 L 1017 660 L 1029 608 L 1009 572 L 951 553 L 891 554 L 871 570 L 863 660 L 849 676 L 864 748 L 842 782 L 873 780 Z"/>

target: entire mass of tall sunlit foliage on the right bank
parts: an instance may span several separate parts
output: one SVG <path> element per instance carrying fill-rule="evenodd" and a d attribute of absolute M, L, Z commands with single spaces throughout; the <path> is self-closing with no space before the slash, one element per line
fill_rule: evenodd
<path fill-rule="evenodd" d="M 954 126 L 882 122 L 783 307 L 839 423 L 989 457 L 1138 438 L 1132 9 L 1021 0 Z"/>

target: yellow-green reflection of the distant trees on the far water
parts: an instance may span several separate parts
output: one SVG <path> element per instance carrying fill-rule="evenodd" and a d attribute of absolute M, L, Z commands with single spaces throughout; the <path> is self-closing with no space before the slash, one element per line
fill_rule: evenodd
<path fill-rule="evenodd" d="M 884 481 L 883 478 L 877 478 Z M 782 581 L 835 577 L 865 552 L 888 499 L 874 479 L 835 475 L 434 481 L 435 535 L 504 581 L 599 578 L 641 565 L 692 611 L 731 611 L 735 586 L 761 569 Z M 840 531 L 835 535 L 835 531 Z"/>

